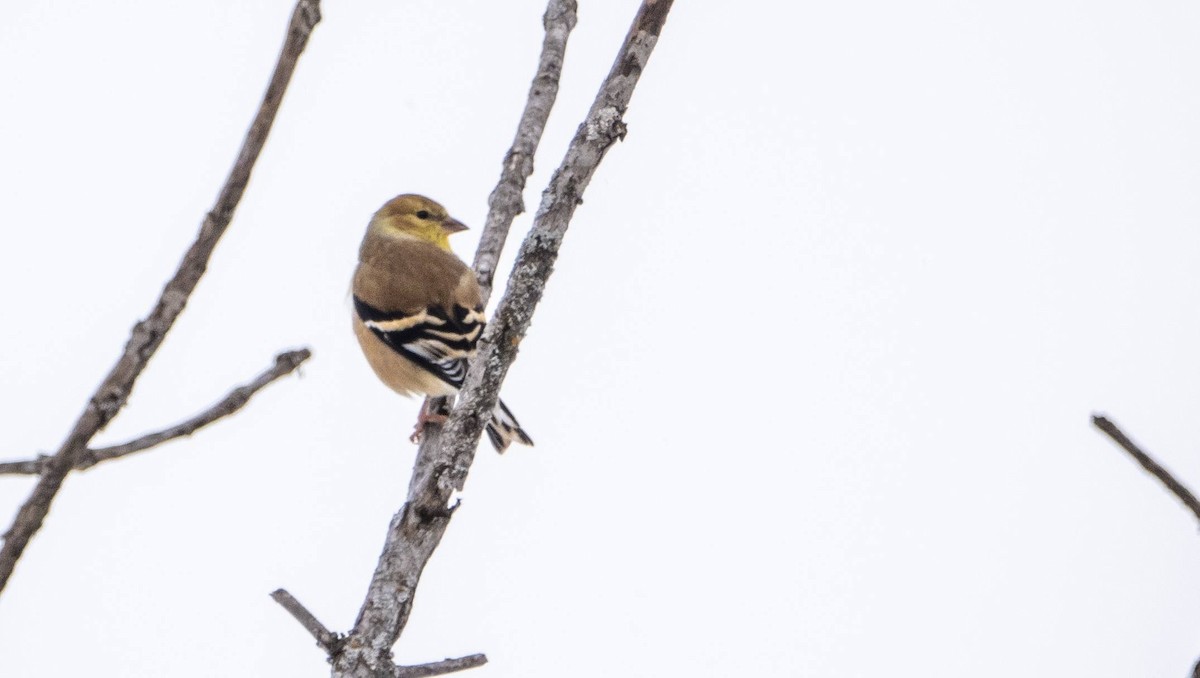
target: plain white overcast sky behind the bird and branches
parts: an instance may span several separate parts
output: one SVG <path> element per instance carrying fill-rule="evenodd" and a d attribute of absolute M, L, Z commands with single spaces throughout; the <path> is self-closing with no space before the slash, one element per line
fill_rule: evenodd
<path fill-rule="evenodd" d="M 310 346 L 235 418 L 72 475 L 5 677 L 328 674 L 419 403 L 349 330 L 371 212 L 476 228 L 541 0 L 324 4 L 114 443 Z M 637 6 L 581 1 L 530 212 Z M 10 1 L 0 457 L 56 449 L 194 238 L 290 0 Z M 480 677 L 1184 676 L 1200 486 L 1200 5 L 676 4 L 565 240 L 403 662 Z M 510 251 L 530 223 L 518 218 Z M 0 478 L 8 516 L 32 480 Z"/>

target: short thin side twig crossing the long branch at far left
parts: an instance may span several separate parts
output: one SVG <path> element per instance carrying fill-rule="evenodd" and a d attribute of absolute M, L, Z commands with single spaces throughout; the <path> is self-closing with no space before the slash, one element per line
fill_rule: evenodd
<path fill-rule="evenodd" d="M 140 452 L 142 450 L 148 450 L 156 445 L 161 445 L 167 440 L 174 438 L 182 438 L 185 436 L 191 436 L 200 428 L 212 424 L 218 419 L 229 416 L 230 414 L 238 412 L 239 409 L 246 407 L 250 398 L 254 394 L 263 390 L 271 382 L 290 374 L 300 366 L 301 362 L 308 360 L 312 356 L 312 352 L 307 348 L 300 350 L 289 350 L 281 353 L 275 356 L 275 365 L 268 368 L 265 372 L 256 377 L 252 382 L 242 384 L 236 389 L 229 391 L 226 397 L 221 398 L 220 402 L 212 407 L 205 409 L 204 412 L 197 414 L 196 416 L 180 421 L 179 424 L 163 428 L 162 431 L 156 431 L 154 433 L 146 433 L 139 438 L 134 438 L 128 443 L 121 443 L 120 445 L 110 445 L 108 448 L 91 449 L 89 448 L 83 454 L 78 455 L 76 458 L 74 470 L 84 470 L 96 466 L 100 462 L 120 458 L 133 452 Z M 19 462 L 4 462 L 0 463 L 0 475 L 2 474 L 25 474 L 25 475 L 37 475 L 42 473 L 46 463 L 50 457 L 41 455 L 34 460 L 19 461 Z"/>

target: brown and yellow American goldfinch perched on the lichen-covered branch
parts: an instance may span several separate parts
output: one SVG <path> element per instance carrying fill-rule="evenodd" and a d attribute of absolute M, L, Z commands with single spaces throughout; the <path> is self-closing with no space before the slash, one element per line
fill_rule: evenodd
<path fill-rule="evenodd" d="M 484 334 L 475 274 L 455 257 L 449 235 L 467 227 L 424 196 L 397 196 L 371 217 L 354 271 L 354 335 L 371 368 L 403 396 L 452 396 Z M 434 416 L 425 407 L 413 439 Z M 504 402 L 487 436 L 496 451 L 532 445 Z"/>

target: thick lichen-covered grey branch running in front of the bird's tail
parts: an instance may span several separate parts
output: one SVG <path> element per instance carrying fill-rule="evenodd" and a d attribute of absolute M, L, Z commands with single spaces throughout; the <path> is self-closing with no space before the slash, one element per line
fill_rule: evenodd
<path fill-rule="evenodd" d="M 466 482 L 484 425 L 529 326 L 575 208 L 605 151 L 624 138 L 622 116 L 672 1 L 643 0 L 612 71 L 542 193 L 533 229 L 522 244 L 508 289 L 468 371 L 458 406 L 440 434 L 427 431 L 418 451 L 408 502 L 388 528 L 354 630 L 334 662 L 335 677 L 370 677 L 391 661 L 391 647 L 408 622 L 421 571 L 449 524 L 449 499 Z"/>

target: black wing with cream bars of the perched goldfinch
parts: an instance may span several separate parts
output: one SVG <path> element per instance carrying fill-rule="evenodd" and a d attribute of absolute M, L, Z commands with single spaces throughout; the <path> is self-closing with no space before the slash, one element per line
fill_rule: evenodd
<path fill-rule="evenodd" d="M 354 296 L 354 312 L 389 348 L 455 389 L 484 332 L 482 308 L 428 306 L 414 312 L 382 311 Z"/>

